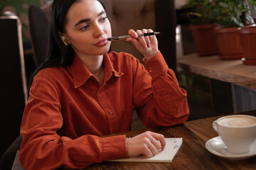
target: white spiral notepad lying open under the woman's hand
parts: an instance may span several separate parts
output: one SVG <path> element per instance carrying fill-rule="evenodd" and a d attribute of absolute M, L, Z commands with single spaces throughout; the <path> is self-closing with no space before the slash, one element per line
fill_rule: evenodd
<path fill-rule="evenodd" d="M 158 154 L 154 155 L 154 157 L 146 158 L 143 156 L 139 157 L 132 157 L 127 159 L 114 159 L 111 162 L 162 162 L 162 163 L 169 163 L 174 159 L 174 156 L 178 152 L 178 149 L 182 145 L 182 138 L 181 137 L 171 137 L 165 138 L 166 140 L 166 147 L 163 151 L 160 151 Z"/>

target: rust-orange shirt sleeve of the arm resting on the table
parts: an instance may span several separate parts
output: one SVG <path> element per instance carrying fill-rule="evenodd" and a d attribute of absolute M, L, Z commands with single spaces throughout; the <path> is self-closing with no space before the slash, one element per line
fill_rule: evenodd
<path fill-rule="evenodd" d="M 127 158 L 126 137 L 58 135 L 63 126 L 61 94 L 54 81 L 35 77 L 21 123 L 19 160 L 27 169 L 82 169 L 110 159 Z"/>

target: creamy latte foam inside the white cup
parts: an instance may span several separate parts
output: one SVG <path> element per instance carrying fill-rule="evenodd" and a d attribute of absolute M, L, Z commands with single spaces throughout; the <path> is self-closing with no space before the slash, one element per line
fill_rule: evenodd
<path fill-rule="evenodd" d="M 256 119 L 246 116 L 230 116 L 227 118 L 222 118 L 218 121 L 220 125 L 230 126 L 230 127 L 242 127 L 251 126 L 256 124 Z"/>

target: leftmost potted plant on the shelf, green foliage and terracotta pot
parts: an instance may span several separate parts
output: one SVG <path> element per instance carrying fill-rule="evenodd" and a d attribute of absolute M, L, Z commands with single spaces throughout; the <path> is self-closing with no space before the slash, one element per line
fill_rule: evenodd
<path fill-rule="evenodd" d="M 213 8 L 215 1 L 210 0 L 190 0 L 181 9 L 187 8 L 187 16 L 191 20 L 189 30 L 193 35 L 196 51 L 199 56 L 217 55 L 217 38 L 213 33 L 213 28 L 217 27 L 213 18 Z"/>

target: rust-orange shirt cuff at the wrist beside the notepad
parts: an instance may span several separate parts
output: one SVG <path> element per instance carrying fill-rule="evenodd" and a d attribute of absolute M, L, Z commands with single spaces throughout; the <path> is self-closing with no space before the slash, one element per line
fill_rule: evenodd
<path fill-rule="evenodd" d="M 126 136 L 102 137 L 102 160 L 127 158 Z"/>

